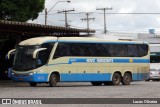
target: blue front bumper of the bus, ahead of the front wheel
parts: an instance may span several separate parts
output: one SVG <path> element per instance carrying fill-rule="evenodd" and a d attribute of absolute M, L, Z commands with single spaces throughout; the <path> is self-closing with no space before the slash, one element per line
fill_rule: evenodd
<path fill-rule="evenodd" d="M 32 74 L 32 75 L 23 75 L 23 74 L 13 74 L 13 81 L 17 82 L 48 82 L 48 74 Z"/>

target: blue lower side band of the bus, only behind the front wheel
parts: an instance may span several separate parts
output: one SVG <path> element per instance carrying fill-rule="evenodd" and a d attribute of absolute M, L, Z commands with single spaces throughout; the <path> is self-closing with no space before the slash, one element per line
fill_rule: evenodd
<path fill-rule="evenodd" d="M 147 73 L 133 73 L 133 81 L 141 81 L 147 79 Z M 60 74 L 62 82 L 91 82 L 91 81 L 112 81 L 111 73 L 62 73 Z"/>

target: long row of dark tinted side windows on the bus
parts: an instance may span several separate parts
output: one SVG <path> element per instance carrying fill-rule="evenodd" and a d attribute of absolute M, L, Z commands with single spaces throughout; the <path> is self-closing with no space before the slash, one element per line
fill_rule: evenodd
<path fill-rule="evenodd" d="M 147 45 L 58 43 L 54 58 L 63 56 L 138 57 L 146 55 L 147 52 Z"/>

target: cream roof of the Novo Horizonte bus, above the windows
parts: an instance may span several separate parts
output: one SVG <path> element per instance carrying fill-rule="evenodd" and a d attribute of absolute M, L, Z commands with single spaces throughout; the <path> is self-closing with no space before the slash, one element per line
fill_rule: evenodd
<path fill-rule="evenodd" d="M 40 45 L 43 43 L 49 42 L 86 42 L 86 43 L 125 43 L 125 44 L 146 44 L 147 42 L 142 41 L 122 41 L 122 40 L 107 40 L 107 39 L 99 39 L 95 37 L 36 37 L 24 40 L 19 43 L 19 45 Z"/>

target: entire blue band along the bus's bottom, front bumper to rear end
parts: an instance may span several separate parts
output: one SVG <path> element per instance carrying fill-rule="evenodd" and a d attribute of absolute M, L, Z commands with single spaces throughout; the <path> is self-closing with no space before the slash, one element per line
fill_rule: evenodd
<path fill-rule="evenodd" d="M 34 74 L 31 76 L 14 76 L 12 79 L 19 82 L 48 82 L 48 74 Z M 62 73 L 62 82 L 91 82 L 91 81 L 112 81 L 112 73 Z M 133 73 L 132 80 L 146 80 L 147 73 Z"/>

